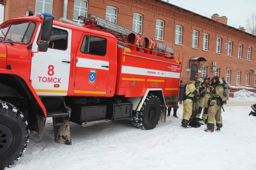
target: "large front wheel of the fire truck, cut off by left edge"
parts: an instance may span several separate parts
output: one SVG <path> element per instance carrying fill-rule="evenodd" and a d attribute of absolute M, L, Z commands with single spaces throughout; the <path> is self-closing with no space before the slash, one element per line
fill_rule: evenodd
<path fill-rule="evenodd" d="M 11 167 L 26 150 L 29 129 L 26 119 L 12 104 L 0 101 L 0 169 Z"/>

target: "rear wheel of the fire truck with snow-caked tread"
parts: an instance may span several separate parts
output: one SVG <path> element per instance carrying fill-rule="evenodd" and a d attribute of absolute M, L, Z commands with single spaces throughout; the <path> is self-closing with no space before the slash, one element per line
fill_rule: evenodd
<path fill-rule="evenodd" d="M 148 94 L 140 111 L 132 117 L 132 124 L 144 130 L 154 129 L 161 115 L 161 103 L 158 97 Z"/>

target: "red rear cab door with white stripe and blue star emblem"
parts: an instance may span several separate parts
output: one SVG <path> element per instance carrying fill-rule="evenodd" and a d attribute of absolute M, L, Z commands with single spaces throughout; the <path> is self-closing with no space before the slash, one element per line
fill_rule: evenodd
<path fill-rule="evenodd" d="M 76 96 L 106 96 L 108 85 L 108 37 L 84 33 L 76 53 Z"/>

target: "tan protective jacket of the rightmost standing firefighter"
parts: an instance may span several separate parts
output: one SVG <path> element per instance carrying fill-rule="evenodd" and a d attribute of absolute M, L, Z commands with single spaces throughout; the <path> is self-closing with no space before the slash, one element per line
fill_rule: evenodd
<path fill-rule="evenodd" d="M 218 106 L 222 106 L 223 103 L 227 103 L 227 95 L 222 85 L 220 85 L 220 81 L 218 81 L 214 83 L 210 105 L 217 104 Z"/>

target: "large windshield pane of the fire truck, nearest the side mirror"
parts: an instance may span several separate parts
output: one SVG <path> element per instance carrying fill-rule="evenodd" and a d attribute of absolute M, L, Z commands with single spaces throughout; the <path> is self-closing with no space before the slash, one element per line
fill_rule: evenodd
<path fill-rule="evenodd" d="M 28 44 L 31 40 L 36 24 L 33 22 L 22 21 L 12 23 L 4 42 Z"/>

